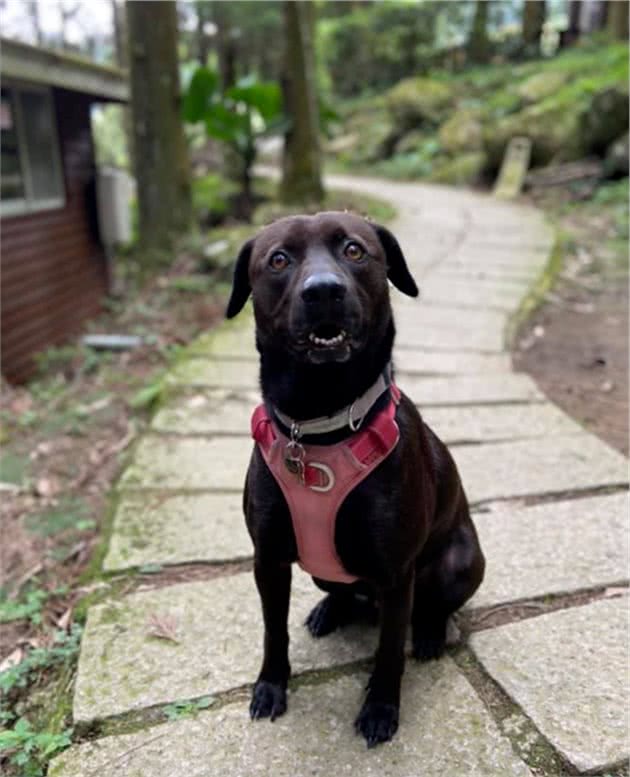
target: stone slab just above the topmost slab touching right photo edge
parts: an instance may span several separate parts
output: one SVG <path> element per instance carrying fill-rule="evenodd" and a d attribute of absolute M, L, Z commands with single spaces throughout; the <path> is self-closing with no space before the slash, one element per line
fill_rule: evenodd
<path fill-rule="evenodd" d="M 580 434 L 583 429 L 555 405 L 427 407 L 422 417 L 445 443 L 483 443 Z"/>

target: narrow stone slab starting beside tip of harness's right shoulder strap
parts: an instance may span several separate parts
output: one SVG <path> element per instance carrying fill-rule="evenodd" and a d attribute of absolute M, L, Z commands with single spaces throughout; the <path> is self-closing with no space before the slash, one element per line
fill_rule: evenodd
<path fill-rule="evenodd" d="M 544 395 L 530 377 L 514 373 L 445 378 L 421 378 L 403 374 L 400 375 L 398 383 L 420 407 L 536 402 L 544 399 Z"/>

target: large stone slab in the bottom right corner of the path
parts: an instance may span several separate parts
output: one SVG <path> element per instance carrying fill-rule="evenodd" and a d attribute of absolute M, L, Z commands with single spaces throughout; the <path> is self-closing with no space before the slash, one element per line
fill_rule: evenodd
<path fill-rule="evenodd" d="M 628 597 L 472 637 L 486 670 L 576 769 L 628 756 Z"/>

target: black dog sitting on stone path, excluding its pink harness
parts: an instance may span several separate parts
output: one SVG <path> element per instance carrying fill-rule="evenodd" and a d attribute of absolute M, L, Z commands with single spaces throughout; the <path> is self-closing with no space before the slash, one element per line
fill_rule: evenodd
<path fill-rule="evenodd" d="M 297 446 L 291 451 L 349 440 L 359 423 L 365 427 L 390 405 L 394 321 L 388 278 L 404 294 L 418 294 L 393 235 L 347 213 L 284 218 L 243 246 L 227 316 L 235 316 L 253 294 L 265 408 L 274 428 L 290 438 L 288 446 Z M 355 419 L 353 403 L 379 380 L 385 390 L 365 418 Z M 300 425 L 291 421 L 339 418 L 340 411 L 348 418 L 343 428 L 316 437 L 300 437 Z M 315 577 L 328 595 L 307 621 L 319 637 L 348 623 L 358 599 L 367 595 L 378 607 L 375 666 L 355 723 L 368 746 L 391 739 L 398 728 L 409 623 L 413 655 L 439 657 L 449 616 L 472 596 L 484 572 L 448 450 L 404 395 L 395 422 L 398 443 L 337 513 L 334 550 L 357 581 Z M 288 457 L 287 467 L 302 468 L 296 476 L 303 477 L 299 458 Z M 273 720 L 286 710 L 287 615 L 298 543 L 283 491 L 258 445 L 247 473 L 244 510 L 265 622 L 264 659 L 250 714 Z"/>

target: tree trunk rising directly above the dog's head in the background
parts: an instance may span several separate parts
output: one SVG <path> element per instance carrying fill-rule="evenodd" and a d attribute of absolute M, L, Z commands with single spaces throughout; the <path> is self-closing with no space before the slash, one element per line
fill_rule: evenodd
<path fill-rule="evenodd" d="M 284 143 L 282 184 L 285 202 L 321 202 L 324 188 L 319 148 L 319 107 L 311 0 L 284 3 L 285 59 L 283 95 L 291 121 Z"/>

